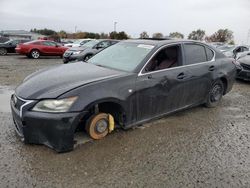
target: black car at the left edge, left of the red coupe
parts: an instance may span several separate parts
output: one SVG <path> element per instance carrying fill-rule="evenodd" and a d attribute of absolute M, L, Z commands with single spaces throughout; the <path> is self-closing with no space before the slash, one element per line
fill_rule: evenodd
<path fill-rule="evenodd" d="M 27 39 L 17 39 L 17 40 L 9 40 L 4 43 L 0 43 L 0 55 L 6 55 L 8 53 L 16 53 L 15 48 L 17 44 L 25 43 L 30 40 Z"/>

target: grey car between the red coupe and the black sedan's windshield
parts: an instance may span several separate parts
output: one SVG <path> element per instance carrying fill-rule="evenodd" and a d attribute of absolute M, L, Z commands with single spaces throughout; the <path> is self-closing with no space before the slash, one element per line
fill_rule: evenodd
<path fill-rule="evenodd" d="M 87 61 L 89 58 L 100 52 L 101 50 L 116 44 L 118 40 L 100 39 L 92 40 L 80 47 L 69 48 L 63 54 L 63 62 L 68 63 L 70 61 Z"/>

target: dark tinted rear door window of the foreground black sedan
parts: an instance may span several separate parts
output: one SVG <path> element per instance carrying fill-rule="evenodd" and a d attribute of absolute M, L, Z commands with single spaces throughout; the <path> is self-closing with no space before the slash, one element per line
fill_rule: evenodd
<path fill-rule="evenodd" d="M 207 61 L 205 48 L 197 44 L 185 44 L 186 64 L 201 63 Z"/>

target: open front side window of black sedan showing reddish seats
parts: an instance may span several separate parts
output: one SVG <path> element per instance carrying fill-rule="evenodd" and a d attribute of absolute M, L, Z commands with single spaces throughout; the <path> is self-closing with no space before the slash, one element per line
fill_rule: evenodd
<path fill-rule="evenodd" d="M 169 69 L 180 65 L 181 51 L 178 45 L 161 49 L 147 64 L 143 72 Z"/>

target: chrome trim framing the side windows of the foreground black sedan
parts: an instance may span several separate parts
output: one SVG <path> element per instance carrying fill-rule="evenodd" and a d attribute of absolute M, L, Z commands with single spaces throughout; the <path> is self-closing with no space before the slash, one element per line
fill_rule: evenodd
<path fill-rule="evenodd" d="M 172 45 L 181 45 L 181 50 L 182 50 L 182 54 L 184 52 L 184 50 L 182 49 L 184 46 L 184 44 L 198 44 L 198 45 L 202 45 L 204 48 L 209 48 L 210 50 L 213 51 L 214 53 L 214 56 L 213 58 L 210 60 L 210 61 L 205 61 L 205 62 L 200 62 L 200 63 L 194 63 L 194 64 L 190 64 L 190 65 L 185 65 L 183 64 L 184 62 L 182 62 L 182 65 L 178 66 L 178 67 L 172 67 L 172 68 L 166 68 L 166 69 L 162 69 L 162 70 L 156 70 L 156 71 L 151 71 L 151 72 L 146 72 L 146 73 L 142 73 L 142 71 L 144 70 L 144 68 L 147 66 L 147 64 L 152 60 L 152 58 L 156 55 L 156 53 L 158 53 L 160 50 L 162 50 L 163 48 L 165 47 L 168 47 L 168 46 L 172 46 Z M 163 72 L 163 71 L 167 71 L 167 70 L 175 70 L 175 69 L 179 69 L 179 68 L 183 68 L 183 67 L 190 67 L 190 66 L 195 66 L 195 65 L 200 65 L 200 64 L 205 64 L 205 63 L 211 63 L 211 62 L 214 62 L 215 61 L 215 56 L 216 56 L 216 53 L 215 51 L 210 48 L 209 46 L 206 46 L 206 45 L 203 45 L 202 43 L 196 43 L 196 42 L 183 42 L 183 43 L 171 43 L 171 44 L 166 44 L 162 47 L 160 47 L 158 50 L 156 50 L 153 55 L 148 59 L 148 61 L 145 63 L 145 65 L 142 67 L 142 69 L 140 70 L 139 74 L 138 74 L 138 77 L 139 76 L 144 76 L 144 75 L 148 75 L 148 74 L 154 74 L 154 73 L 158 73 L 158 72 Z"/>

